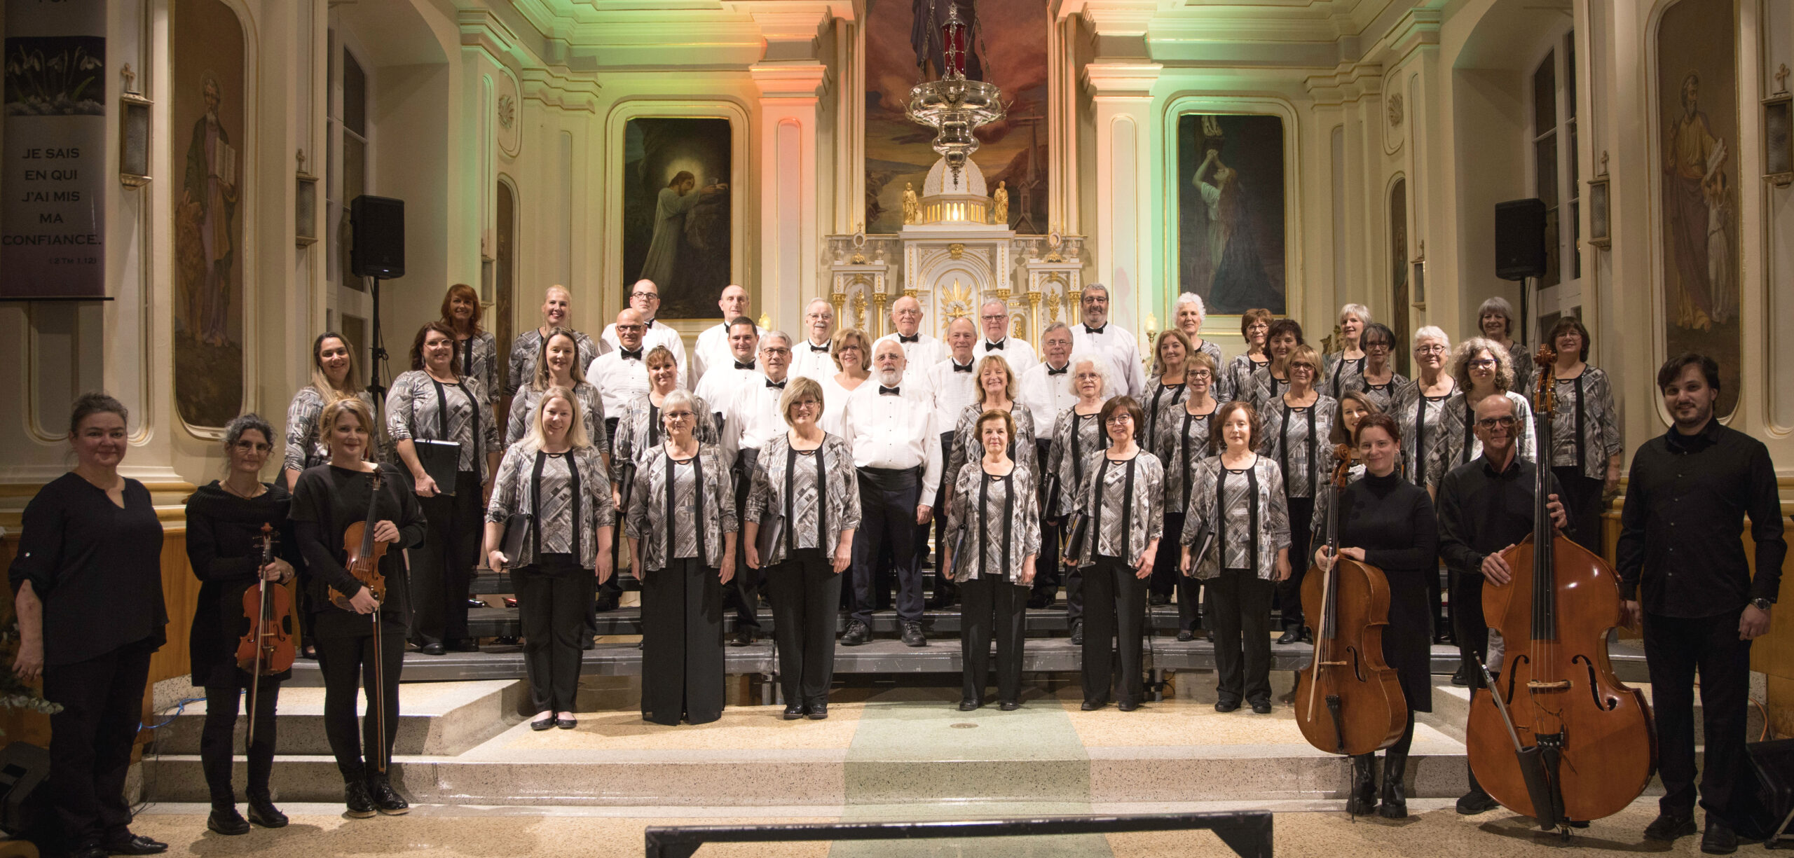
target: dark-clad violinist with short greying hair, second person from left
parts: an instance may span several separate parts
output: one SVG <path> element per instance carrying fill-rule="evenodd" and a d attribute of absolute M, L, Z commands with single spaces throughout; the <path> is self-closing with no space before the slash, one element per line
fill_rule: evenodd
<path fill-rule="evenodd" d="M 206 690 L 206 725 L 199 734 L 199 759 L 212 790 L 212 815 L 206 828 L 221 835 L 248 835 L 249 822 L 262 828 L 280 828 L 287 817 L 274 808 L 267 790 L 267 776 L 274 767 L 274 709 L 280 700 L 280 682 L 292 672 L 264 675 L 255 682 L 255 734 L 249 738 L 249 819 L 237 813 L 237 795 L 231 792 L 231 733 L 237 725 L 237 699 L 249 686 L 249 675 L 237 666 L 237 643 L 249 629 L 242 607 L 246 591 L 258 580 L 269 588 L 292 580 L 292 561 L 298 546 L 291 539 L 287 521 L 292 496 L 283 484 L 264 484 L 262 466 L 273 446 L 274 428 L 257 414 L 244 414 L 224 426 L 222 480 L 203 485 L 187 498 L 187 561 L 201 580 L 194 602 L 194 629 L 188 636 L 188 656 L 194 684 Z M 276 541 L 273 562 L 262 564 L 262 527 L 269 527 Z M 287 623 L 292 614 L 276 618 Z"/>

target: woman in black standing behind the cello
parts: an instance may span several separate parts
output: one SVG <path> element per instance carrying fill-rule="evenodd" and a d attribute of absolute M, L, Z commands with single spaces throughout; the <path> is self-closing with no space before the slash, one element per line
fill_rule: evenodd
<path fill-rule="evenodd" d="M 1401 776 L 1414 745 L 1414 713 L 1433 711 L 1432 684 L 1432 607 L 1426 577 L 1439 577 L 1439 519 L 1426 489 L 1401 478 L 1401 426 L 1387 414 L 1369 414 L 1358 421 L 1358 457 L 1365 464 L 1362 480 L 1340 494 L 1340 555 L 1383 570 L 1389 579 L 1389 627 L 1383 629 L 1383 661 L 1396 668 L 1401 695 L 1408 700 L 1408 725 L 1383 752 L 1383 802 L 1378 806 L 1372 765 L 1376 754 L 1351 758 L 1353 786 L 1347 810 L 1403 819 L 1408 801 Z M 1328 548 L 1315 552 L 1315 562 L 1331 568 Z"/>

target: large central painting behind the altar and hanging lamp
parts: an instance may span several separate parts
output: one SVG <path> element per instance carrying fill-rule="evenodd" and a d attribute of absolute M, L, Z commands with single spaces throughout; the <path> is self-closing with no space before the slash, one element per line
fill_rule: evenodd
<path fill-rule="evenodd" d="M 1008 226 L 1024 235 L 1046 235 L 1046 7 L 1042 0 L 868 0 L 867 23 L 867 233 L 902 229 L 904 188 L 922 193 L 927 168 L 940 158 L 929 147 L 935 131 L 904 116 L 910 88 L 924 70 L 938 77 L 938 36 L 926 21 L 944 20 L 949 7 L 962 20 L 976 18 L 967 77 L 1003 91 L 1008 115 L 978 129 L 972 163 L 985 186 L 1008 193 Z M 924 27 L 917 27 L 917 21 Z M 931 38 L 935 36 L 935 38 Z"/>

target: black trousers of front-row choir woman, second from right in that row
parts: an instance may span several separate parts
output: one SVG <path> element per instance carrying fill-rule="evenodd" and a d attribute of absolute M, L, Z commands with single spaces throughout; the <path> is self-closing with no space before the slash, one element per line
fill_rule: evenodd
<path fill-rule="evenodd" d="M 1134 566 L 1121 557 L 1096 555 L 1084 568 L 1084 699 L 1109 700 L 1119 684 L 1118 702 L 1137 704 L 1145 697 L 1141 674 L 1141 632 L 1146 627 L 1146 582 L 1134 577 Z M 1114 638 L 1110 641 L 1110 638 Z M 1119 670 L 1119 677 L 1118 672 Z M 1119 679 L 1119 682 L 1118 682 Z"/>

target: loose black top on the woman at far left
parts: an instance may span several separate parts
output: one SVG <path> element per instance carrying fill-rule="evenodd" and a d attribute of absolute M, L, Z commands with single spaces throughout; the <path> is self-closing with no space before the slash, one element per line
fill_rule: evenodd
<path fill-rule="evenodd" d="M 13 593 L 43 602 L 43 663 L 74 665 L 127 643 L 167 643 L 161 521 L 144 484 L 124 480 L 124 507 L 70 471 L 25 505 Z"/>

